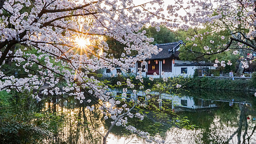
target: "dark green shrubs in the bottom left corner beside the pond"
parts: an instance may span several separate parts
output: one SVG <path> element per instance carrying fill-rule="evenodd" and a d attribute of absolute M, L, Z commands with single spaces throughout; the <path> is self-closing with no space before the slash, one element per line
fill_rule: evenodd
<path fill-rule="evenodd" d="M 58 133 L 64 115 L 40 111 L 40 104 L 30 93 L 0 92 L 1 144 L 40 144 Z"/>

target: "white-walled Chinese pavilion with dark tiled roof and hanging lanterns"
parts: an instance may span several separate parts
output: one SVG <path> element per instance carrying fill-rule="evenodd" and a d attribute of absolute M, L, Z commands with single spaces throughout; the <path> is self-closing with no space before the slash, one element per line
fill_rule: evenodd
<path fill-rule="evenodd" d="M 179 59 L 180 46 L 184 45 L 183 41 L 156 44 L 156 46 L 162 49 L 157 55 L 152 54 L 150 59 L 147 59 L 146 66 L 141 66 L 140 62 L 137 62 L 134 68 L 130 68 L 128 73 L 131 72 L 134 75 L 137 74 L 139 68 L 145 69 L 142 71 L 143 76 L 153 77 L 174 77 L 178 75 L 188 76 L 193 75 L 195 69 L 199 69 L 198 75 L 204 75 L 209 69 L 215 69 L 212 63 L 206 63 L 205 61 L 188 61 Z M 117 72 L 122 72 L 120 68 L 110 71 L 107 69 L 103 75 L 110 76 L 115 75 Z M 161 75 L 161 72 L 165 72 L 165 75 Z M 127 72 L 122 72 L 126 73 Z M 157 75 L 154 76 L 153 74 Z"/>

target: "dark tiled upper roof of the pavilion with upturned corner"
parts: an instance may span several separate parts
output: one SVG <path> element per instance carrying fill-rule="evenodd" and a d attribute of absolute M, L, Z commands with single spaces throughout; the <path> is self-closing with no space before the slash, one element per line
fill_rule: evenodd
<path fill-rule="evenodd" d="M 157 55 L 152 54 L 151 58 L 147 60 L 162 60 L 171 57 L 179 58 L 179 51 L 177 51 L 177 49 L 180 48 L 181 44 L 184 44 L 182 40 L 172 43 L 156 44 L 158 49 L 162 48 L 163 50 L 160 51 Z"/>

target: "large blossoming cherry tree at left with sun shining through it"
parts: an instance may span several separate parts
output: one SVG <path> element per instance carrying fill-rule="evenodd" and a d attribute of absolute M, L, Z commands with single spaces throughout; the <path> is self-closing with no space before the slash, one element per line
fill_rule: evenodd
<path fill-rule="evenodd" d="M 133 0 L 1 0 L 0 4 L 0 90 L 20 93 L 33 90 L 32 97 L 41 101 L 44 97 L 39 96 L 39 89 L 48 85 L 40 93 L 74 96 L 80 103 L 94 100 L 100 105 L 104 119 L 113 120 L 108 132 L 102 134 L 104 144 L 114 125 L 122 125 L 150 140 L 147 132 L 126 125 L 127 117 L 143 119 L 131 110 L 145 101 L 134 101 L 131 108 L 119 107 L 121 102 L 108 92 L 108 86 L 90 73 L 116 67 L 125 71 L 135 67 L 137 61 L 145 65 L 146 58 L 158 54 L 158 48 L 150 44 L 154 39 L 138 31 L 154 17 L 147 10 L 150 5 L 162 2 L 152 0 L 135 5 Z M 159 23 L 152 26 L 159 29 Z M 109 47 L 105 36 L 125 45 L 121 58 L 106 52 Z M 137 55 L 130 57 L 131 51 Z M 6 72 L 3 66 L 7 61 L 23 73 Z M 143 81 L 141 75 L 136 79 Z M 127 87 L 134 88 L 129 79 Z M 145 94 L 149 92 L 147 89 Z M 126 93 L 127 88 L 122 96 Z M 148 95 L 147 99 L 151 97 Z M 93 111 L 95 107 L 87 108 Z"/>

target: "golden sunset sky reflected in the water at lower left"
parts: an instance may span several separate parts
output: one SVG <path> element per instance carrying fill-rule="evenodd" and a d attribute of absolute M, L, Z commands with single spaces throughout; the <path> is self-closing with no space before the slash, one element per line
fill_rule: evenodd
<path fill-rule="evenodd" d="M 50 103 L 51 108 L 53 108 L 52 105 L 53 104 Z M 43 110 L 47 110 L 49 104 L 46 103 L 45 106 L 46 108 Z M 95 109 L 98 110 L 98 106 L 95 107 Z M 73 144 L 97 144 L 97 141 L 93 142 L 92 139 L 102 141 L 103 138 L 98 134 L 98 132 L 102 134 L 106 133 L 104 125 L 101 122 L 102 113 L 96 111 L 97 116 L 95 116 L 94 112 L 91 112 L 87 108 L 85 108 L 83 112 L 83 107 L 65 108 L 59 105 L 56 105 L 56 111 L 59 116 L 65 115 L 62 120 L 63 127 L 59 129 L 59 139 L 62 142 L 67 142 L 68 144 L 70 144 L 71 141 Z M 86 120 L 84 117 L 86 117 Z M 87 124 L 85 124 L 85 121 Z"/>

